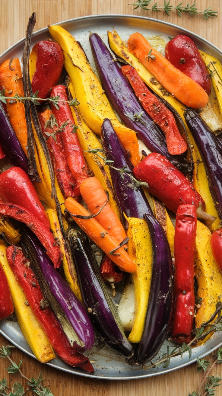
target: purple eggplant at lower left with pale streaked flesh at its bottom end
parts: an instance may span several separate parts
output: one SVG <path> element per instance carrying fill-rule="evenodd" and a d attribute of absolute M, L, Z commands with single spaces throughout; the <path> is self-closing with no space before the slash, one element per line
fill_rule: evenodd
<path fill-rule="evenodd" d="M 27 246 L 29 246 L 28 256 L 31 259 L 31 265 L 33 265 L 34 272 L 36 272 L 36 276 L 40 280 L 40 285 L 42 284 L 40 279 L 42 276 L 40 272 L 42 272 L 43 278 L 45 278 L 52 295 L 55 300 L 57 300 L 57 303 L 59 303 L 66 318 L 76 333 L 77 337 L 72 339 L 72 343 L 75 342 L 75 346 L 78 347 L 78 349 L 90 349 L 94 344 L 95 335 L 85 308 L 82 306 L 76 295 L 74 295 L 65 279 L 54 268 L 53 263 L 45 253 L 43 246 L 40 244 L 36 236 L 30 232 L 30 230 L 27 230 L 23 240 L 25 241 L 25 247 L 27 248 Z M 38 267 L 40 267 L 40 271 Z M 48 293 L 46 293 L 46 299 L 48 299 L 51 304 L 51 299 L 50 297 L 48 298 Z M 59 312 L 58 315 L 58 313 L 55 312 L 55 314 L 61 322 L 61 313 Z M 67 335 L 67 331 L 62 322 L 61 325 Z M 70 337 L 68 337 L 68 339 L 70 340 Z"/>

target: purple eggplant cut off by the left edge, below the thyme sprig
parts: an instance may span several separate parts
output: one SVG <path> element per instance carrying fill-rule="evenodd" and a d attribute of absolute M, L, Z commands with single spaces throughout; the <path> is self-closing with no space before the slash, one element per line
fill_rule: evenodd
<path fill-rule="evenodd" d="M 28 161 L 0 102 L 0 141 L 13 165 L 28 173 Z"/>

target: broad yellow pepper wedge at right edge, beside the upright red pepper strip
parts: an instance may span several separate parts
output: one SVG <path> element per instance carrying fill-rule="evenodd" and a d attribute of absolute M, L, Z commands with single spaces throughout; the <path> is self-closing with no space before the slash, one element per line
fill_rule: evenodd
<path fill-rule="evenodd" d="M 211 251 L 211 232 L 197 221 L 197 234 L 195 239 L 195 277 L 198 282 L 197 297 L 201 297 L 201 307 L 195 316 L 195 325 L 211 318 L 216 303 L 222 299 L 222 274 L 218 269 Z M 204 341 L 209 337 L 206 337 Z"/>

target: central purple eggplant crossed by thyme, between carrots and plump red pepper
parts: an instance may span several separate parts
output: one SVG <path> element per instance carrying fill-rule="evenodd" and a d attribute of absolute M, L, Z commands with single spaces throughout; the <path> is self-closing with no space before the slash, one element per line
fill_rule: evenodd
<path fill-rule="evenodd" d="M 139 219 L 143 218 L 144 213 L 152 215 L 152 209 L 142 188 L 136 188 L 133 179 L 129 176 L 129 174 L 133 176 L 133 165 L 108 118 L 102 123 L 101 139 L 107 160 L 113 161 L 110 164 L 110 173 L 122 220 L 125 219 L 123 212 L 127 217 Z M 113 169 L 112 166 L 118 169 L 125 167 L 124 172 L 127 174 L 121 175 L 120 171 Z"/>

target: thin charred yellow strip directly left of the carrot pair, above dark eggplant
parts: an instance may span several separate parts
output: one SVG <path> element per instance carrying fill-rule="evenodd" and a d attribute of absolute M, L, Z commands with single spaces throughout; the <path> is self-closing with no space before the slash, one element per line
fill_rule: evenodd
<path fill-rule="evenodd" d="M 68 250 L 69 246 L 66 245 L 65 248 L 63 234 L 59 225 L 59 219 L 57 216 L 56 209 L 51 209 L 51 208 L 46 209 L 46 213 L 49 219 L 51 230 L 53 232 L 53 236 L 55 240 L 59 242 L 60 249 L 63 253 L 63 270 L 64 270 L 65 278 L 70 288 L 72 289 L 73 293 L 82 303 L 82 295 L 80 292 L 80 287 L 76 274 L 76 268 L 71 259 L 72 253 Z M 63 225 L 66 231 L 68 228 L 68 223 L 66 222 L 65 219 L 63 219 Z"/>

